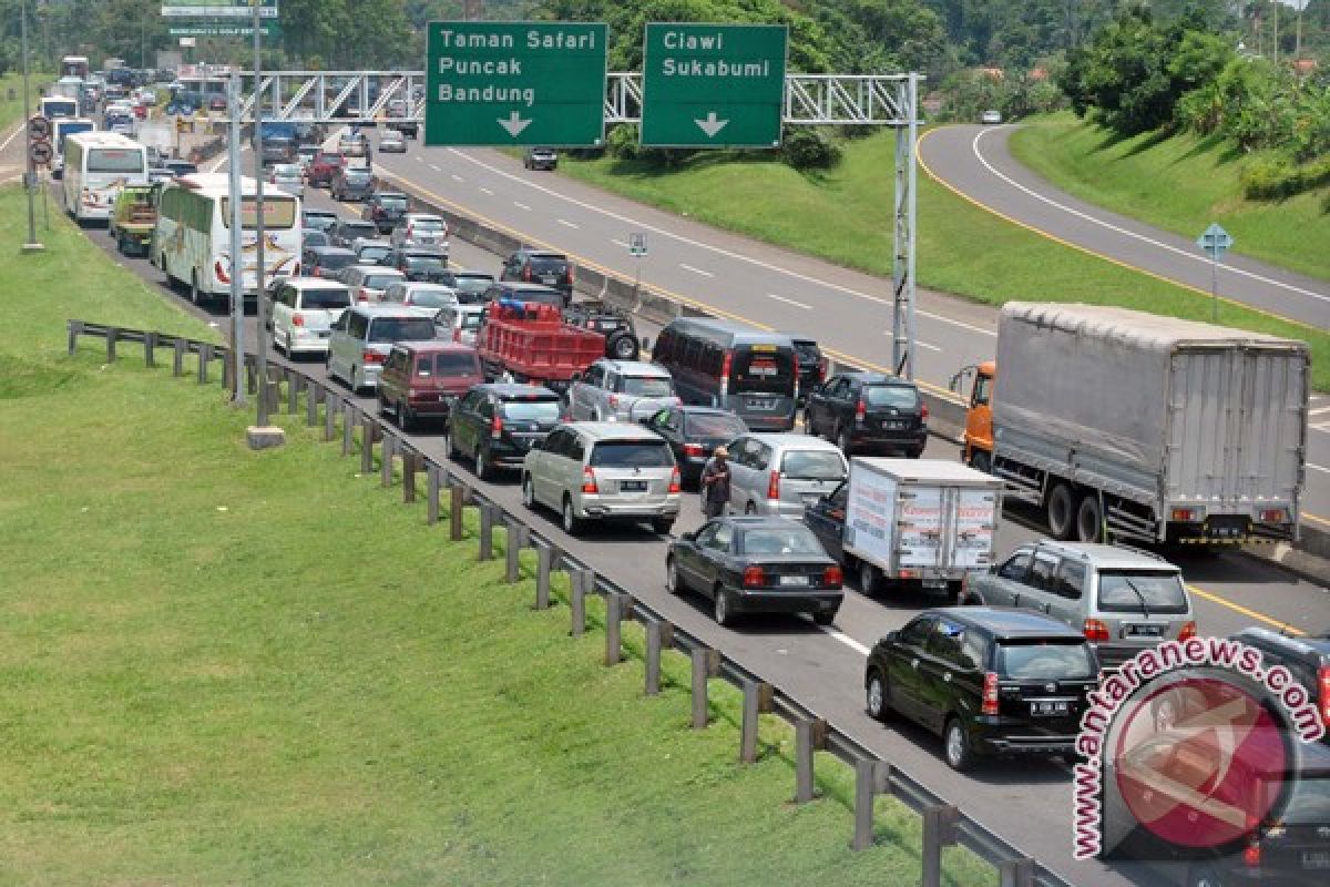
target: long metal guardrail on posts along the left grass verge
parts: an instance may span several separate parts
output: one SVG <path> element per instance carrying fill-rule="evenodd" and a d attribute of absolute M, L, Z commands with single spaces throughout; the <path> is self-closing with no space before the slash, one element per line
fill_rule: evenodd
<path fill-rule="evenodd" d="M 76 352 L 80 336 L 97 338 L 102 339 L 106 344 L 108 362 L 117 359 L 118 346 L 121 343 L 141 344 L 144 348 L 145 363 L 149 367 L 157 366 L 157 351 L 160 348 L 169 350 L 172 354 L 173 375 L 176 376 L 185 375 L 185 355 L 198 355 L 196 375 L 200 384 L 206 384 L 209 382 L 210 364 L 214 360 L 222 360 L 223 363 L 223 372 L 221 374 L 223 386 L 230 378 L 229 374 L 234 371 L 230 348 L 186 336 L 177 336 L 157 331 L 133 330 L 77 319 L 69 320 L 68 334 L 68 350 L 70 355 Z M 259 387 L 259 374 L 257 371 L 257 360 L 254 359 L 254 355 L 245 355 L 243 363 L 250 392 L 257 394 Z M 750 672 L 739 662 L 725 656 L 724 652 L 713 650 L 701 638 L 694 637 L 693 634 L 689 634 L 688 632 L 670 624 L 649 605 L 633 597 L 630 592 L 628 592 L 628 589 L 618 582 L 597 574 L 591 564 L 563 552 L 561 547 L 555 540 L 535 529 L 529 523 L 527 523 L 524 516 L 508 512 L 503 505 L 475 489 L 475 487 L 472 487 L 472 481 L 455 473 L 451 465 L 439 464 L 427 456 L 416 448 L 410 439 L 386 423 L 378 412 L 360 410 L 354 404 L 350 396 L 343 396 L 322 380 L 314 379 L 313 376 L 299 372 L 294 367 L 282 363 L 269 360 L 265 367 L 265 372 L 262 374 L 262 379 L 265 384 L 263 392 L 259 396 L 271 398 L 270 404 L 274 414 L 278 412 L 281 407 L 279 386 L 282 382 L 286 383 L 287 414 L 298 412 L 299 394 L 301 391 L 305 392 L 306 422 L 309 426 L 314 427 L 318 424 L 318 404 L 323 403 L 326 442 L 331 442 L 335 438 L 335 419 L 336 414 L 340 412 L 343 455 L 351 453 L 351 449 L 354 448 L 354 430 L 359 426 L 362 432 L 360 459 L 363 473 L 372 473 L 374 444 L 375 442 L 380 442 L 380 472 L 386 487 L 392 483 L 394 456 L 400 456 L 403 461 L 403 499 L 406 501 L 415 501 L 415 475 L 424 471 L 430 479 L 427 493 L 430 523 L 435 523 L 439 517 L 439 495 L 444 487 L 448 488 L 452 503 L 462 504 L 463 507 L 468 503 L 477 505 L 481 511 L 481 559 L 492 556 L 491 544 L 493 527 L 499 523 L 507 525 L 509 528 L 509 536 L 505 543 L 505 548 L 508 549 L 505 553 L 509 559 L 509 581 L 516 581 L 519 574 L 517 556 L 515 553 L 519 549 L 513 547 L 515 539 L 521 544 L 535 547 L 537 551 L 544 548 L 551 552 L 548 555 L 543 553 L 539 559 L 543 577 L 537 576 L 537 605 L 540 602 L 541 585 L 544 585 L 545 594 L 548 594 L 547 570 L 555 568 L 553 553 L 557 552 L 559 567 L 567 570 L 573 578 L 571 582 L 573 586 L 573 600 L 571 604 L 575 617 L 575 633 L 579 633 L 576 620 L 579 618 L 577 610 L 580 609 L 579 605 L 581 602 L 581 593 L 591 590 L 606 598 L 606 664 L 617 662 L 620 660 L 620 626 L 617 620 L 630 618 L 641 622 L 648 633 L 646 672 L 649 686 L 652 681 L 653 665 L 656 669 L 656 680 L 658 681 L 658 657 L 660 648 L 664 644 L 661 638 L 668 637 L 669 646 L 689 654 L 693 660 L 693 686 L 694 690 L 701 690 L 704 702 L 706 684 L 704 678 L 701 686 L 698 688 L 697 676 L 700 662 L 706 662 L 706 677 L 722 677 L 743 690 L 745 703 L 743 726 L 741 730 L 741 757 L 745 755 L 745 750 L 747 750 L 749 754 L 755 755 L 757 717 L 759 711 L 765 710 L 775 713 L 791 723 L 795 727 L 798 745 L 795 754 L 798 771 L 798 799 L 807 801 L 813 797 L 813 749 L 826 750 L 842 762 L 854 767 L 855 839 L 853 846 L 857 850 L 862 850 L 872 844 L 874 798 L 879 794 L 890 794 L 911 810 L 919 813 L 924 819 L 922 850 L 924 887 L 940 886 L 940 850 L 942 847 L 951 844 L 960 844 L 988 864 L 994 866 L 999 871 L 1003 887 L 1033 887 L 1036 884 L 1039 887 L 1072 887 L 1059 875 L 1023 854 L 1017 847 L 994 834 L 982 823 L 964 815 L 964 813 L 962 813 L 956 806 L 946 802 L 938 794 L 927 789 L 922 782 L 903 770 L 890 766 L 847 733 L 826 719 L 819 718 L 811 707 L 803 705 L 779 685 L 766 681 L 761 676 Z M 460 511 L 462 509 L 452 509 L 450 507 L 450 523 L 454 540 L 462 539 Z M 585 582 L 584 585 L 584 580 L 577 580 L 579 573 L 583 577 L 591 577 L 592 581 Z M 622 608 L 624 601 L 628 601 L 626 608 Z M 585 610 L 581 612 L 581 628 L 584 628 Z M 652 637 L 656 640 L 652 640 Z M 613 652 L 610 652 L 610 645 L 616 648 Z M 697 705 L 698 701 L 694 697 L 694 718 Z M 694 721 L 694 726 L 705 726 L 705 709 L 702 717 L 704 723 L 697 725 Z M 743 757 L 743 759 L 753 758 Z"/>

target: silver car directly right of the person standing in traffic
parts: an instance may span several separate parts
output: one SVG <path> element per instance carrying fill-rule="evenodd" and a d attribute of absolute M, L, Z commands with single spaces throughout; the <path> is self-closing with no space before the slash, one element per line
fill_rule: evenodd
<path fill-rule="evenodd" d="M 811 435 L 746 434 L 730 451 L 730 511 L 803 517 L 850 473 L 835 444 Z"/>

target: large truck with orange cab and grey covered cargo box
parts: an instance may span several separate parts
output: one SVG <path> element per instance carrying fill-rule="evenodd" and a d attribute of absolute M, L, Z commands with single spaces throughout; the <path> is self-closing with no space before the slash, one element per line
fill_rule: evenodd
<path fill-rule="evenodd" d="M 967 370 L 966 460 L 1039 505 L 1055 537 L 1298 537 L 1306 343 L 1117 307 L 1013 302 L 996 364 Z"/>

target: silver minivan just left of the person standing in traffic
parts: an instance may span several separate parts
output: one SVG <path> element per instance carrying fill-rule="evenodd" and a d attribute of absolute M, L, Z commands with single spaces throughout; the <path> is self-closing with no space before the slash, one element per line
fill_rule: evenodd
<path fill-rule="evenodd" d="M 527 453 L 521 499 L 563 517 L 569 536 L 588 521 L 650 521 L 668 533 L 678 517 L 680 477 L 674 453 L 654 431 L 612 422 L 559 426 Z"/>

